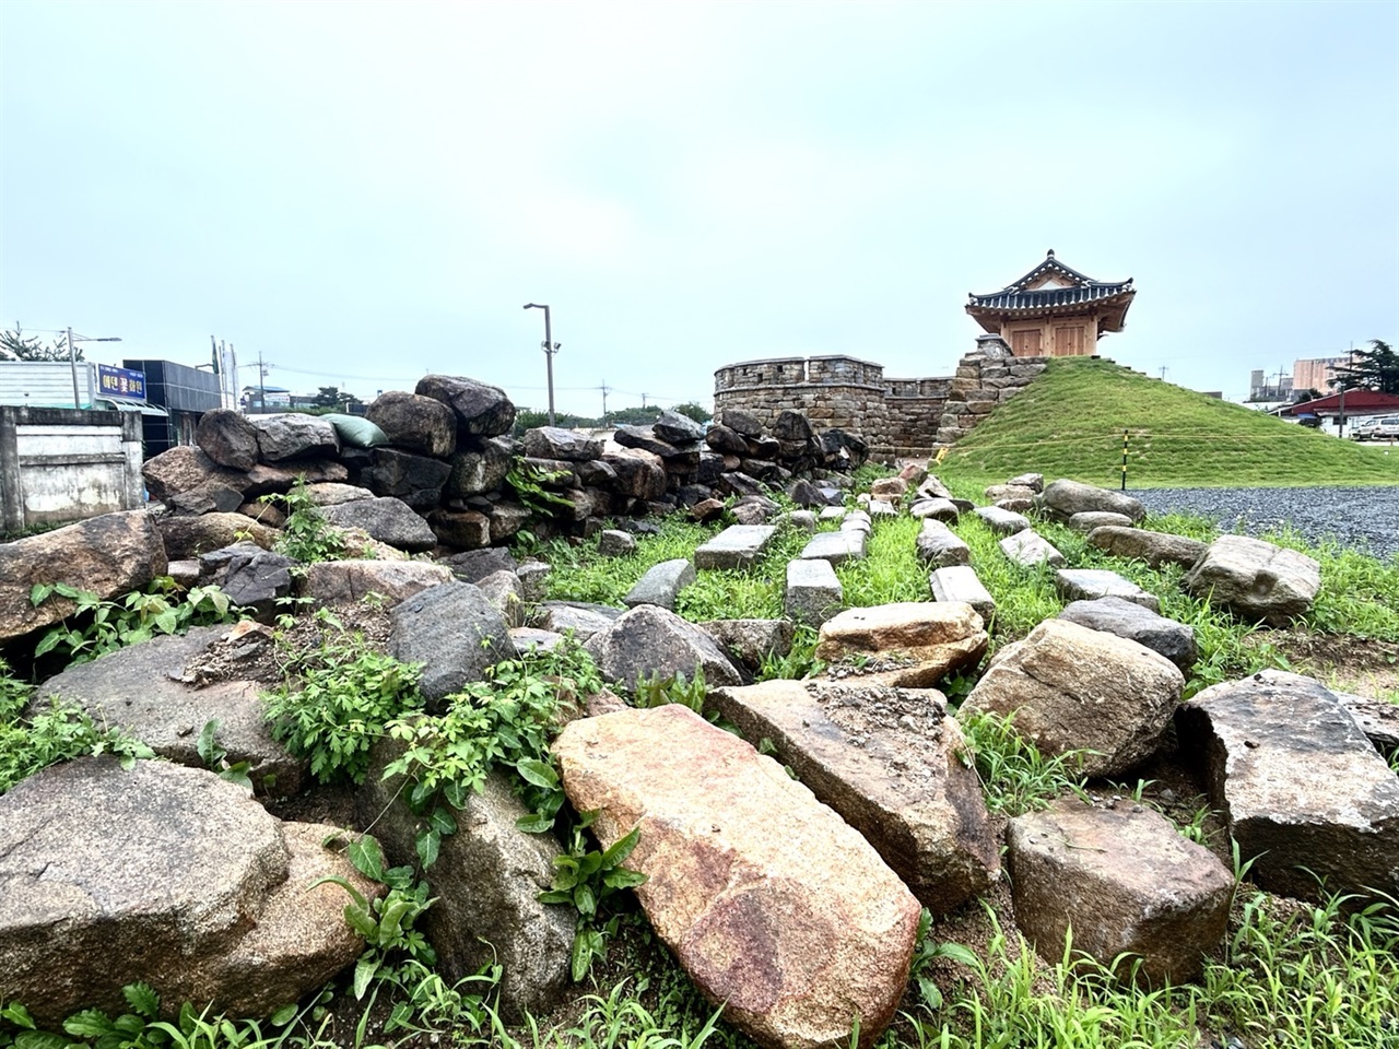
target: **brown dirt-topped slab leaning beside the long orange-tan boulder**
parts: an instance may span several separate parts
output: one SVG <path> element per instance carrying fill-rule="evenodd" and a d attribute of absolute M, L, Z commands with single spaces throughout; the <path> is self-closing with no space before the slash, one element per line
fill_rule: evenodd
<path fill-rule="evenodd" d="M 817 681 L 716 688 L 706 704 L 771 740 L 817 800 L 865 835 L 935 915 L 986 891 L 999 838 L 942 692 Z"/>

